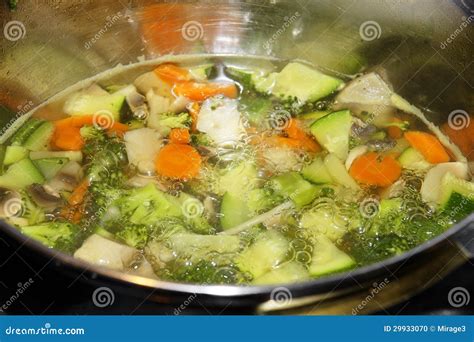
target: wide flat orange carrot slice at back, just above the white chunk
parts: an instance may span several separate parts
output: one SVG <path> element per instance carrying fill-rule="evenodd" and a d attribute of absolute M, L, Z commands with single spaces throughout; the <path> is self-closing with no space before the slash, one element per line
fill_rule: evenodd
<path fill-rule="evenodd" d="M 233 83 L 212 83 L 212 82 L 181 82 L 175 84 L 173 88 L 177 96 L 185 96 L 193 101 L 203 101 L 215 95 L 224 95 L 236 98 L 238 90 Z"/>

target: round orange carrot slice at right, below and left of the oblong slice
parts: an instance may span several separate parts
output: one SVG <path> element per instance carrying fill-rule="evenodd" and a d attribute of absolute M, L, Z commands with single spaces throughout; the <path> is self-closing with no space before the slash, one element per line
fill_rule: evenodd
<path fill-rule="evenodd" d="M 400 178 L 402 169 L 392 156 L 382 157 L 368 152 L 356 158 L 349 170 L 350 175 L 366 185 L 386 187 Z"/>

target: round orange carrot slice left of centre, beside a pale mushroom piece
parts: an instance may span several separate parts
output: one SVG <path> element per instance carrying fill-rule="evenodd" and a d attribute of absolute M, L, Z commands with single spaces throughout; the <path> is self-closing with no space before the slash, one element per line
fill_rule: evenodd
<path fill-rule="evenodd" d="M 163 147 L 155 160 L 158 174 L 187 180 L 195 178 L 201 168 L 201 156 L 190 145 L 170 143 Z"/>

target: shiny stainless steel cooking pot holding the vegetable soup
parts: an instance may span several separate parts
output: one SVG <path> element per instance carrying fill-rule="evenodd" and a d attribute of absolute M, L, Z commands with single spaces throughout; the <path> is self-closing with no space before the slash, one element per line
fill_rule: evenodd
<path fill-rule="evenodd" d="M 297 58 L 344 75 L 374 69 L 436 124 L 454 110 L 474 113 L 474 5 L 469 0 L 19 0 L 16 10 L 6 2 L 1 6 L 4 128 L 82 79 L 169 54 Z M 471 215 L 413 250 L 350 272 L 278 286 L 217 286 L 169 283 L 88 265 L 1 222 L 0 242 L 9 255 L 0 260 L 0 274 L 13 255 L 19 256 L 36 274 L 106 288 L 117 298 L 151 303 L 156 311 L 150 312 L 166 308 L 176 314 L 184 306 L 188 312 L 368 313 L 380 309 L 375 302 L 394 304 L 466 262 L 474 254 L 473 239 Z M 377 300 L 368 301 L 374 288 L 380 290 Z"/>

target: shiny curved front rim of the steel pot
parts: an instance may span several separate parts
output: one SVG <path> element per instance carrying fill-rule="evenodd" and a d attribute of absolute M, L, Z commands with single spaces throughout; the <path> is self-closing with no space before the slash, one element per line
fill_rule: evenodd
<path fill-rule="evenodd" d="M 120 271 L 107 269 L 105 267 L 93 265 L 86 261 L 76 259 L 72 255 L 68 255 L 52 248 L 48 248 L 40 242 L 29 238 L 26 235 L 23 235 L 17 228 L 7 224 L 3 220 L 0 221 L 0 229 L 2 230 L 2 232 L 5 232 L 10 237 L 20 242 L 20 246 L 18 248 L 26 246 L 27 248 L 33 250 L 36 253 L 50 257 L 51 260 L 63 263 L 67 266 L 72 267 L 75 270 L 82 271 L 80 272 L 80 274 L 83 274 L 85 272 L 95 273 L 97 275 L 101 275 L 105 278 L 114 280 L 119 283 L 124 283 L 127 285 L 137 285 L 139 287 L 153 290 L 163 290 L 180 294 L 196 294 L 214 297 L 238 298 L 244 296 L 269 295 L 271 291 L 277 287 L 284 287 L 289 291 L 295 291 L 295 293 L 297 293 L 298 291 L 302 291 L 305 289 L 308 290 L 338 286 L 338 284 L 341 284 L 347 278 L 365 280 L 373 279 L 373 277 L 381 273 L 386 273 L 386 271 L 388 271 L 391 267 L 402 264 L 408 259 L 411 259 L 412 257 L 418 256 L 423 252 L 434 248 L 441 242 L 449 239 L 450 237 L 455 236 L 460 231 L 467 229 L 469 224 L 473 222 L 474 214 L 471 214 L 461 222 L 458 222 L 457 224 L 453 225 L 450 229 L 434 237 L 433 239 L 428 240 L 423 244 L 409 251 L 406 251 L 403 254 L 393 256 L 367 266 L 359 267 L 347 272 L 334 274 L 327 277 L 311 279 L 308 281 L 274 285 L 198 285 L 146 278 L 143 276 L 127 274 Z M 5 262 L 8 262 L 8 260 Z M 317 292 L 318 291 L 315 291 L 313 292 L 313 294 L 317 294 Z"/>

